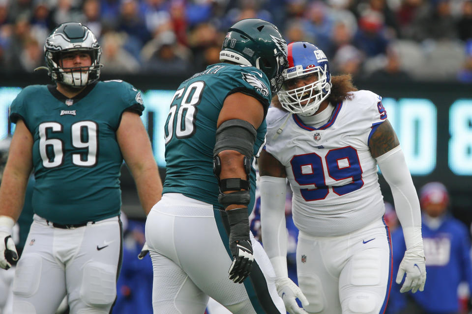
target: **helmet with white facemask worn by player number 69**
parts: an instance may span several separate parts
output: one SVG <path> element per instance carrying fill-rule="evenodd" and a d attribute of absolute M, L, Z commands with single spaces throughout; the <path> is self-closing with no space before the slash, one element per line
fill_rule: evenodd
<path fill-rule="evenodd" d="M 87 52 L 91 65 L 63 68 L 60 60 L 65 53 Z M 46 39 L 44 55 L 49 76 L 54 82 L 82 87 L 100 77 L 100 55 L 102 49 L 92 31 L 77 22 L 67 22 L 54 29 Z"/>

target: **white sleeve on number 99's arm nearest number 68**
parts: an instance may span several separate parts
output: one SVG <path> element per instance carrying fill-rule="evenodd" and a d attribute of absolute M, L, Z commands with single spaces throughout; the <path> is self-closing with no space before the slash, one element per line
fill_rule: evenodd
<path fill-rule="evenodd" d="M 267 256 L 276 278 L 288 277 L 285 178 L 261 177 L 261 230 Z"/>

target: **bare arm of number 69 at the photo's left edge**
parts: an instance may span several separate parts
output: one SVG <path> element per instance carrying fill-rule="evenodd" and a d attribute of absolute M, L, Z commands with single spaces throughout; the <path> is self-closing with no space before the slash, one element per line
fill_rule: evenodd
<path fill-rule="evenodd" d="M 0 216 L 15 221 L 25 201 L 26 186 L 32 169 L 33 137 L 22 120 L 18 120 L 11 139 L 8 160 L 0 185 Z"/>

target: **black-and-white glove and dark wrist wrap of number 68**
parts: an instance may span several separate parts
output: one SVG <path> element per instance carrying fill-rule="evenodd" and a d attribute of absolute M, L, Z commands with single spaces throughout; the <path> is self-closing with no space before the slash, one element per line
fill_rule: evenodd
<path fill-rule="evenodd" d="M 249 276 L 254 261 L 251 239 L 249 237 L 249 218 L 247 208 L 227 210 L 230 224 L 230 250 L 233 255 L 229 278 L 240 284 Z"/>

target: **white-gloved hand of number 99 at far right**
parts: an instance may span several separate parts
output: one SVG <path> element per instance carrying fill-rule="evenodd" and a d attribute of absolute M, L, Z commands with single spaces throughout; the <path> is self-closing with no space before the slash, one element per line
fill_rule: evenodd
<path fill-rule="evenodd" d="M 412 290 L 413 293 L 423 291 L 424 283 L 426 282 L 426 265 L 423 248 L 411 248 L 405 252 L 403 260 L 397 273 L 397 284 L 400 284 L 403 275 L 406 274 L 405 282 L 403 283 L 400 292 L 407 292 Z"/>

